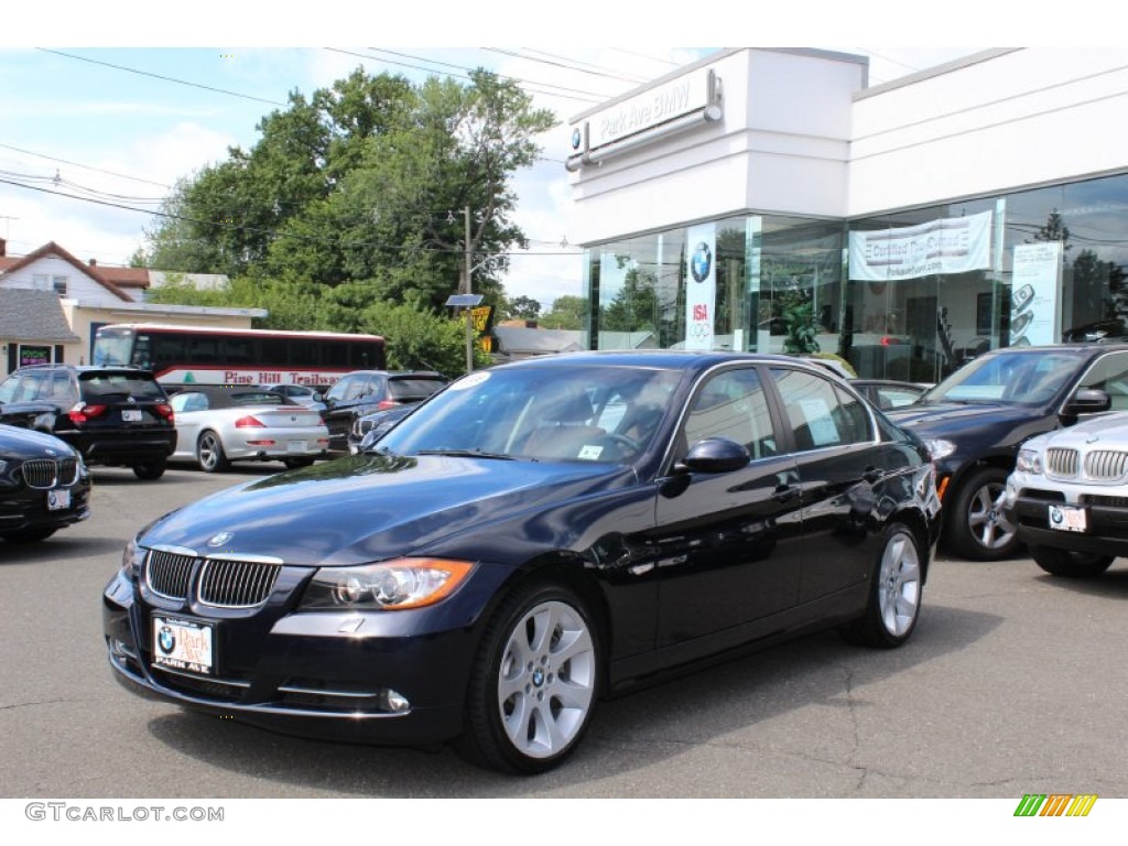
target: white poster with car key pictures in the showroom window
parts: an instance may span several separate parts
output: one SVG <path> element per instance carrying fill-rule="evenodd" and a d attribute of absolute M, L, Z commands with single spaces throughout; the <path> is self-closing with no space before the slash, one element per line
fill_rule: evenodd
<path fill-rule="evenodd" d="M 1061 244 L 1019 244 L 1011 275 L 1011 346 L 1052 344 L 1058 340 L 1057 280 Z"/>

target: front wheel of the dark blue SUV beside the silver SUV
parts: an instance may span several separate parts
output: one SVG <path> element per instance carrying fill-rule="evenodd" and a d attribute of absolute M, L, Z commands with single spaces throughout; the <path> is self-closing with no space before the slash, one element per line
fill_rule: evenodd
<path fill-rule="evenodd" d="M 1007 472 L 981 467 L 973 472 L 952 500 L 949 546 L 969 561 L 1002 561 L 1021 546 L 1019 532 L 1003 512 Z"/>

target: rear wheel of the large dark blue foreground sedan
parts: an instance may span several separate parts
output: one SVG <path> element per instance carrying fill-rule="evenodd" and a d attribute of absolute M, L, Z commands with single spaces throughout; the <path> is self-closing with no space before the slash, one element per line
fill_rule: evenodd
<path fill-rule="evenodd" d="M 924 570 L 920 548 L 904 523 L 887 527 L 865 614 L 841 629 L 849 643 L 892 649 L 913 634 L 920 617 Z"/>

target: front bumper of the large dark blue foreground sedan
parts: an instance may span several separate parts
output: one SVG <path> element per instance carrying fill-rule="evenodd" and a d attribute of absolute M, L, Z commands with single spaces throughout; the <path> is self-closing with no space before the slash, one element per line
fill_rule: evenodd
<path fill-rule="evenodd" d="M 155 614 L 201 616 L 155 608 L 136 593 L 118 574 L 103 597 L 113 675 L 135 694 L 314 739 L 418 746 L 461 731 L 479 636 L 478 615 L 467 611 L 479 590 L 460 591 L 469 594 L 465 607 L 439 613 L 268 607 L 254 616 L 209 616 L 215 666 L 206 677 L 152 660 Z"/>

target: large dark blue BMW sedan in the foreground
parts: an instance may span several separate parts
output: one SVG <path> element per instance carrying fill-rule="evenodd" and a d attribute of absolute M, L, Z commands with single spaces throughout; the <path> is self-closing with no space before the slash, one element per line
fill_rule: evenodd
<path fill-rule="evenodd" d="M 108 659 L 223 717 L 543 772 L 659 673 L 825 626 L 904 644 L 938 508 L 920 441 L 810 364 L 531 359 L 142 529 Z"/>

